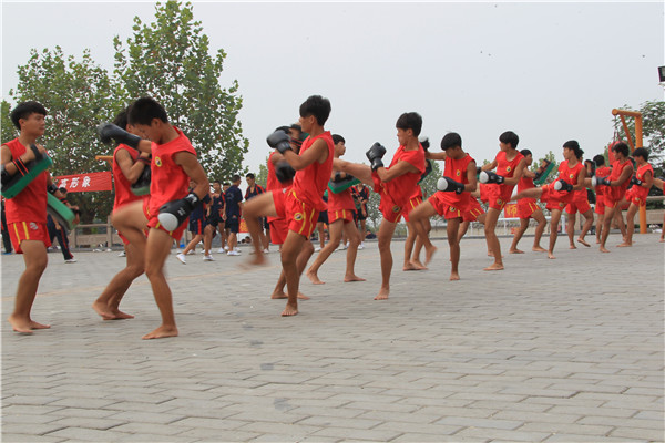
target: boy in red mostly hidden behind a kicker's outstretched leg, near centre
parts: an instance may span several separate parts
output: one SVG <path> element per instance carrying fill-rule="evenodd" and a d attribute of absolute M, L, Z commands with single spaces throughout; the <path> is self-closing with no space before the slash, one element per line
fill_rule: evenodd
<path fill-rule="evenodd" d="M 335 143 L 335 158 L 339 158 L 346 153 L 346 141 L 339 134 L 332 134 L 332 143 Z M 331 179 L 345 178 L 346 174 L 335 172 L 332 167 Z M 356 275 L 354 268 L 356 266 L 356 256 L 358 254 L 358 245 L 360 245 L 360 234 L 356 229 L 354 223 L 354 212 L 356 210 L 356 203 L 351 195 L 351 189 L 345 189 L 339 194 L 328 193 L 328 231 L 330 233 L 330 241 L 319 251 L 316 260 L 307 270 L 307 277 L 314 285 L 323 285 L 318 278 L 318 270 L 321 265 L 330 257 L 330 255 L 339 246 L 341 240 L 341 233 L 344 231 L 349 239 L 349 247 L 347 248 L 347 266 L 344 275 L 344 281 L 365 281 Z"/>

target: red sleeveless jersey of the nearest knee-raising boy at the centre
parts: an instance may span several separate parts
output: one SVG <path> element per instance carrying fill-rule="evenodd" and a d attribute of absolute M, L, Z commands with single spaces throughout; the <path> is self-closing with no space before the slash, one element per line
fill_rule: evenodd
<path fill-rule="evenodd" d="M 293 190 L 300 202 L 306 203 L 316 210 L 326 210 L 328 206 L 323 197 L 332 173 L 332 157 L 335 155 L 335 144 L 330 131 L 326 131 L 316 137 L 307 137 L 303 142 L 299 155 L 303 155 L 319 138 L 328 145 L 328 158 L 324 163 L 314 162 L 306 168 L 296 171 Z"/>

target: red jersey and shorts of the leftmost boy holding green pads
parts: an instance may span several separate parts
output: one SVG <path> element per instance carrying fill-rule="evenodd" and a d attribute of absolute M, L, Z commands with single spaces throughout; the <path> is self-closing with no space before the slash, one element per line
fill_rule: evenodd
<path fill-rule="evenodd" d="M 12 158 L 27 152 L 27 147 L 14 138 L 4 143 Z M 22 254 L 21 241 L 38 240 L 51 246 L 47 229 L 47 183 L 49 173 L 42 172 L 32 179 L 16 197 L 6 199 L 4 213 L 7 229 L 17 254 Z"/>

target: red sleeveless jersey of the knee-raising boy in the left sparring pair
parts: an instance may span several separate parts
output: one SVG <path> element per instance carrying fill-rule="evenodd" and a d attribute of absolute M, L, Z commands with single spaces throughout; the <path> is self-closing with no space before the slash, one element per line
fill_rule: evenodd
<path fill-rule="evenodd" d="M 183 151 L 196 155 L 196 151 L 181 130 L 175 126 L 173 128 L 178 134 L 177 138 L 163 145 L 152 144 L 152 177 L 147 206 L 151 216 L 156 216 L 165 203 L 185 197 L 190 187 L 190 177 L 175 164 L 174 156 Z"/>

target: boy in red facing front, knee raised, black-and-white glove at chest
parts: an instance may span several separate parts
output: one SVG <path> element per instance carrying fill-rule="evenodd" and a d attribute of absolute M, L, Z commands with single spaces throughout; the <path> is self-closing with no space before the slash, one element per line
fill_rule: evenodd
<path fill-rule="evenodd" d="M 419 229 L 418 235 L 424 243 L 426 250 L 433 248 L 426 233 L 421 231 L 422 224 L 418 223 L 424 218 L 440 215 L 448 223 L 447 236 L 450 246 L 450 280 L 459 280 L 460 243 L 458 231 L 462 222 L 462 214 L 469 207 L 470 192 L 475 190 L 475 161 L 462 150 L 462 137 L 454 132 L 448 133 L 441 138 L 441 150 L 444 152 L 446 166 L 443 177 L 437 184 L 437 192 L 423 202 L 410 217 Z M 431 254 L 430 254 L 431 255 Z"/>

